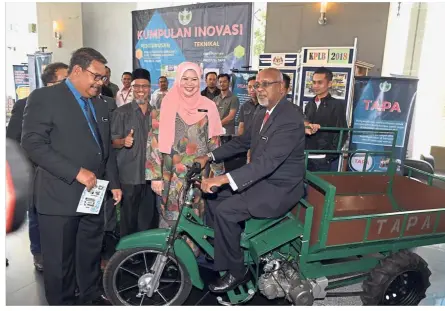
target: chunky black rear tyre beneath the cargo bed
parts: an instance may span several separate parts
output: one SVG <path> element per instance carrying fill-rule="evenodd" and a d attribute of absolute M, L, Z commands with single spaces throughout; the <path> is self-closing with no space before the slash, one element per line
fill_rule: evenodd
<path fill-rule="evenodd" d="M 417 254 L 400 251 L 371 270 L 363 282 L 363 305 L 416 306 L 431 285 L 428 264 Z"/>

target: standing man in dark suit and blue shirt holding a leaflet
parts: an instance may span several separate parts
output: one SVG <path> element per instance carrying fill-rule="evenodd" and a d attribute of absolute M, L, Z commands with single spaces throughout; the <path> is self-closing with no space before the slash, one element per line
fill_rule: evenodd
<path fill-rule="evenodd" d="M 121 200 L 110 114 L 97 99 L 106 59 L 91 48 L 75 51 L 64 82 L 37 89 L 25 107 L 22 146 L 37 165 L 34 201 L 40 224 L 49 305 L 103 303 L 99 289 L 104 208 L 77 212 L 84 189 L 109 181 Z"/>

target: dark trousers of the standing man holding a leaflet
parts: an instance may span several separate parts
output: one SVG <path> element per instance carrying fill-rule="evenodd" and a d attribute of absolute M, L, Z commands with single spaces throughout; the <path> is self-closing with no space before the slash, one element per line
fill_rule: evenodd
<path fill-rule="evenodd" d="M 73 305 L 79 287 L 81 302 L 100 294 L 100 259 L 104 233 L 103 206 L 98 215 L 39 214 L 43 277 L 49 305 Z"/>

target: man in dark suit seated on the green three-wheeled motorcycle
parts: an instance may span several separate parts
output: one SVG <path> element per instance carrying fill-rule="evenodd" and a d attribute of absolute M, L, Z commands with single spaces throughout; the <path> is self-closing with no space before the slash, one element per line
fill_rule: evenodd
<path fill-rule="evenodd" d="M 303 195 L 304 124 L 303 117 L 284 98 L 280 71 L 260 71 L 255 83 L 258 103 L 252 126 L 242 135 L 196 161 L 222 161 L 251 150 L 251 162 L 228 174 L 204 179 L 201 188 L 227 187 L 209 201 L 209 225 L 215 230 L 215 269 L 227 271 L 209 285 L 215 293 L 223 293 L 248 281 L 240 247 L 240 222 L 252 217 L 276 218 L 291 210 Z"/>

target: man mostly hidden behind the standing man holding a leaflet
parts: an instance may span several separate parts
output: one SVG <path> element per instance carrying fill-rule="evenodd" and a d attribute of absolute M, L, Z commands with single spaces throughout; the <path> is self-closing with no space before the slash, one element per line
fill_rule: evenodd
<path fill-rule="evenodd" d="M 62 82 L 68 76 L 68 65 L 64 63 L 51 63 L 43 70 L 41 79 L 44 86 L 51 86 Z M 18 100 L 12 109 L 11 119 L 6 129 L 6 137 L 16 140 L 18 143 L 22 140 L 22 122 L 23 111 L 25 110 L 26 100 L 23 98 Z M 34 206 L 32 197 L 29 202 L 28 211 L 29 223 L 28 232 L 31 242 L 31 253 L 34 257 L 34 267 L 37 271 L 43 271 L 42 251 L 40 247 L 40 230 L 37 211 Z"/>

